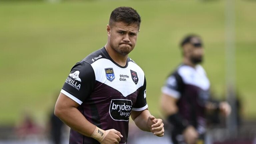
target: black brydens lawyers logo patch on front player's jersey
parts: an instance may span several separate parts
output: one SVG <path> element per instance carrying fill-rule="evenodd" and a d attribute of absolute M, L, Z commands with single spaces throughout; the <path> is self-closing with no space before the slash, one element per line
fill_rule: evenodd
<path fill-rule="evenodd" d="M 132 110 L 132 101 L 125 99 L 112 99 L 109 114 L 113 120 L 129 121 Z"/>

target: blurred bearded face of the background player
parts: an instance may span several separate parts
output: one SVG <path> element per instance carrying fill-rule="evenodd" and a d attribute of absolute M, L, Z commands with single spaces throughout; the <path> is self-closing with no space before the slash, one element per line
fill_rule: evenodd
<path fill-rule="evenodd" d="M 187 56 L 194 64 L 201 63 L 203 61 L 204 49 L 202 42 L 199 38 L 194 37 L 190 43 L 187 44 Z"/>

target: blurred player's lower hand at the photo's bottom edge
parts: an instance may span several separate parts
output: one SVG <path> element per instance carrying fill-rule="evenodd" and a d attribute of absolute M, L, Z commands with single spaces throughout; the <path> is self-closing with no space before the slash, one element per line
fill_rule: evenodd
<path fill-rule="evenodd" d="M 184 130 L 183 136 L 187 144 L 195 144 L 199 135 L 193 126 L 188 126 Z"/>

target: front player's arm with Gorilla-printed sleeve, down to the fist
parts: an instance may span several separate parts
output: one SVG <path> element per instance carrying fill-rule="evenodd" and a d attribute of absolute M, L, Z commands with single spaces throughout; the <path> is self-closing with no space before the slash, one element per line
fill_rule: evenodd
<path fill-rule="evenodd" d="M 76 64 L 62 87 L 54 114 L 70 128 L 98 140 L 101 144 L 118 144 L 122 137 L 120 132 L 98 128 L 77 109 L 90 96 L 94 84 L 95 74 L 91 65 L 86 62 Z"/>

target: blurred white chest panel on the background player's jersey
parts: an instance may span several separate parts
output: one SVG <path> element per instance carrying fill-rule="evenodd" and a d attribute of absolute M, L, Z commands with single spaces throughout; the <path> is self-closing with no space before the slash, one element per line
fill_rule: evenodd
<path fill-rule="evenodd" d="M 195 68 L 190 66 L 180 66 L 178 68 L 178 73 L 182 77 L 185 84 L 190 84 L 197 86 L 203 90 L 208 90 L 210 88 L 209 79 L 202 66 L 197 65 Z"/>

